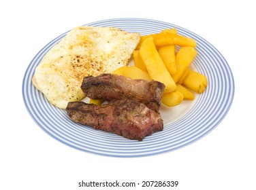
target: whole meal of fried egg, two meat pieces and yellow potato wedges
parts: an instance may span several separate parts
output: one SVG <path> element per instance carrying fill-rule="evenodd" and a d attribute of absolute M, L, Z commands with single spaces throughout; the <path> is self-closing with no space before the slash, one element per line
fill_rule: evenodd
<path fill-rule="evenodd" d="M 33 84 L 73 121 L 143 140 L 163 130 L 163 104 L 175 107 L 206 90 L 206 76 L 190 67 L 196 45 L 176 29 L 140 37 L 80 26 L 46 53 Z"/>

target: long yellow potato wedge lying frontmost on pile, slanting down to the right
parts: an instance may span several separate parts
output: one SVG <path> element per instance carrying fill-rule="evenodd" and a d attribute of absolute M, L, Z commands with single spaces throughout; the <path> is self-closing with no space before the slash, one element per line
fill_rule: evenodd
<path fill-rule="evenodd" d="M 148 37 L 142 43 L 140 48 L 140 57 L 146 65 L 150 78 L 155 81 L 160 81 L 165 85 L 164 94 L 174 92 L 176 90 L 176 83 L 172 79 L 172 76 L 167 71 L 163 60 L 159 56 L 153 37 Z"/>

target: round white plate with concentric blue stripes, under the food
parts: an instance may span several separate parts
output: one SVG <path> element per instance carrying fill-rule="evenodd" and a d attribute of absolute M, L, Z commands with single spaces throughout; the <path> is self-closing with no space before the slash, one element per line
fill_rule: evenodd
<path fill-rule="evenodd" d="M 180 35 L 197 41 L 197 57 L 193 69 L 207 76 L 208 88 L 193 101 L 184 101 L 177 107 L 161 109 L 164 130 L 144 138 L 142 142 L 129 140 L 72 122 L 64 110 L 48 102 L 32 84 L 35 67 L 46 52 L 67 33 L 50 41 L 33 58 L 22 83 L 22 96 L 27 111 L 45 132 L 65 145 L 81 151 L 113 157 L 140 157 L 165 153 L 184 147 L 205 136 L 225 117 L 234 97 L 234 79 L 225 58 L 208 41 L 180 26 L 142 18 L 117 18 L 86 24 L 112 26 L 141 35 L 159 33 L 163 29 L 176 28 Z"/>

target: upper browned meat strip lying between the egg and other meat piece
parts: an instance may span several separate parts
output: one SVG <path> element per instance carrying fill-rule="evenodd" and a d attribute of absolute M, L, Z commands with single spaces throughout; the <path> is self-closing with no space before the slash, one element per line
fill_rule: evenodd
<path fill-rule="evenodd" d="M 147 107 L 159 111 L 165 88 L 159 81 L 145 81 L 127 77 L 103 74 L 84 77 L 82 91 L 92 99 L 121 100 L 125 98 L 144 102 Z"/>

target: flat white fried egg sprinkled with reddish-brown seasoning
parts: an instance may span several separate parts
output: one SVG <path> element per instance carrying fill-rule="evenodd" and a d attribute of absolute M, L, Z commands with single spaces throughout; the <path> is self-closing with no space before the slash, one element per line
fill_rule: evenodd
<path fill-rule="evenodd" d="M 112 73 L 126 66 L 139 41 L 139 33 L 79 26 L 42 58 L 35 69 L 33 84 L 50 103 L 65 109 L 68 102 L 84 98 L 80 88 L 84 77 Z"/>

